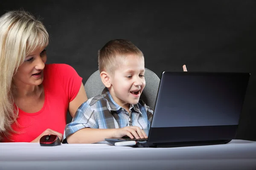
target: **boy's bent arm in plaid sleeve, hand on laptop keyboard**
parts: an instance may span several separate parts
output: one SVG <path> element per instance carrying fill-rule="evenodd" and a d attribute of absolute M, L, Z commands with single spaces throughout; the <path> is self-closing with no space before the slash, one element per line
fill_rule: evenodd
<path fill-rule="evenodd" d="M 88 101 L 87 101 L 88 102 Z M 96 143 L 104 141 L 106 138 L 147 138 L 144 130 L 140 127 L 131 126 L 117 129 L 99 129 L 99 119 L 97 111 L 84 102 L 73 118 L 73 121 L 66 125 L 64 132 L 64 143 Z M 90 101 L 89 101 L 90 103 Z"/>

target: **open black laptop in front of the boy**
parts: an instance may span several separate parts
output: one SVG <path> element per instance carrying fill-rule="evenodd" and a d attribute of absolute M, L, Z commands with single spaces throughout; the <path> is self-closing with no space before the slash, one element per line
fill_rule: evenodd
<path fill-rule="evenodd" d="M 226 144 L 236 137 L 249 77 L 249 73 L 163 71 L 148 139 L 105 141 L 131 147 Z"/>

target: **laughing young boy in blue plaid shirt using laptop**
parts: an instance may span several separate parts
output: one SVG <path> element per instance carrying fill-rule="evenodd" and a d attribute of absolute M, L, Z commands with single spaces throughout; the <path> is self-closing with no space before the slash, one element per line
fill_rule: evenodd
<path fill-rule="evenodd" d="M 139 100 L 145 87 L 143 53 L 127 40 L 111 40 L 99 50 L 98 63 L 105 89 L 78 108 L 63 142 L 148 138 L 153 110 Z"/>

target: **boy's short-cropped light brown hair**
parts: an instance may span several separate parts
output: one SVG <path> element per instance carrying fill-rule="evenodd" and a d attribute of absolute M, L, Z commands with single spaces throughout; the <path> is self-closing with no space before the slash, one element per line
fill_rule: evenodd
<path fill-rule="evenodd" d="M 116 39 L 107 42 L 98 51 L 99 72 L 106 71 L 113 75 L 119 65 L 118 59 L 125 59 L 128 55 L 144 57 L 142 51 L 128 40 Z"/>

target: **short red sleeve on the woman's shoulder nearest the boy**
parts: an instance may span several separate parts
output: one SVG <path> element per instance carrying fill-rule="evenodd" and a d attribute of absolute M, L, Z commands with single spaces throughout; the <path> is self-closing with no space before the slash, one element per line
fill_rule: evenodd
<path fill-rule="evenodd" d="M 68 96 L 69 102 L 76 98 L 81 87 L 82 78 L 77 74 L 76 70 L 67 64 L 55 64 L 58 71 L 58 78 L 61 88 Z"/>

